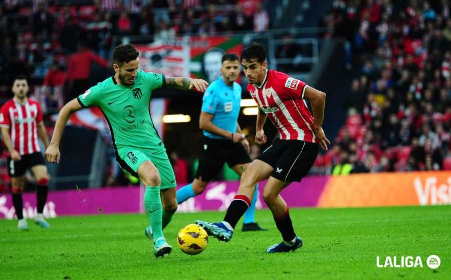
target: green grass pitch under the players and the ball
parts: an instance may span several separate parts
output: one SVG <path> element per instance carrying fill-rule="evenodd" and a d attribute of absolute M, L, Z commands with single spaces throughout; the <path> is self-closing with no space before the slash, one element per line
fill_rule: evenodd
<path fill-rule="evenodd" d="M 451 206 L 291 209 L 304 246 L 268 254 L 281 241 L 269 210 L 257 221 L 269 231 L 241 232 L 189 256 L 176 234 L 196 219 L 218 221 L 220 212 L 176 214 L 165 230 L 174 247 L 156 259 L 144 236 L 145 215 L 59 217 L 41 229 L 29 220 L 0 220 L 0 279 L 451 279 Z M 427 267 L 436 254 L 440 267 Z M 423 267 L 378 268 L 376 256 L 420 256 Z"/>

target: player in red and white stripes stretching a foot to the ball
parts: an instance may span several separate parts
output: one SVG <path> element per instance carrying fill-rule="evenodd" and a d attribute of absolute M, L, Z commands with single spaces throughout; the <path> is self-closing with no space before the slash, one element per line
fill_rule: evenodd
<path fill-rule="evenodd" d="M 255 184 L 268 179 L 263 198 L 273 213 L 283 241 L 270 246 L 267 252 L 294 251 L 302 246 L 302 239 L 294 231 L 288 205 L 280 192 L 291 182 L 300 182 L 307 175 L 316 160 L 319 146 L 327 151 L 330 142 L 321 127 L 326 94 L 285 73 L 267 70 L 266 51 L 256 42 L 243 50 L 241 63 L 249 81 L 248 91 L 260 107 L 256 143 L 265 144 L 267 141 L 263 131 L 267 117 L 281 136 L 244 172 L 238 193 L 224 220 L 219 223 L 197 220 L 196 223 L 219 240 L 229 241 L 238 220 L 251 204 Z M 313 116 L 304 99 L 310 100 Z"/>

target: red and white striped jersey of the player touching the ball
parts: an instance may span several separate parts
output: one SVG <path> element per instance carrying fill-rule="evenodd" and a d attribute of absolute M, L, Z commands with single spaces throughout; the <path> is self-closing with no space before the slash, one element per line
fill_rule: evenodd
<path fill-rule="evenodd" d="M 308 85 L 285 73 L 267 70 L 260 87 L 248 91 L 279 130 L 281 139 L 318 143 L 313 133 L 313 116 L 304 98 Z"/>

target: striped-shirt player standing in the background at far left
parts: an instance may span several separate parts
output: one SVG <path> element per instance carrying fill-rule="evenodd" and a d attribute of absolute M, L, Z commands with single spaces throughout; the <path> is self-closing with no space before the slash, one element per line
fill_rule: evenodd
<path fill-rule="evenodd" d="M 49 174 L 39 147 L 38 135 L 46 148 L 49 147 L 49 139 L 41 106 L 37 101 L 27 98 L 29 87 L 24 76 L 18 76 L 14 80 L 12 89 L 14 97 L 0 109 L 0 127 L 3 142 L 10 153 L 7 168 L 8 175 L 12 177 L 12 197 L 19 220 L 18 228 L 28 229 L 23 214 L 22 192 L 25 184 L 24 175 L 29 168 L 38 183 L 36 189 L 38 213 L 35 222 L 43 228 L 48 228 L 50 225 L 44 219 L 43 211 L 49 191 Z"/>

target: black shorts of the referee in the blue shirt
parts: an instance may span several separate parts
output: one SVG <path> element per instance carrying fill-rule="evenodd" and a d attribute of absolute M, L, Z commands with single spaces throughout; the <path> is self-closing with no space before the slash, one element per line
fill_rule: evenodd
<path fill-rule="evenodd" d="M 216 177 L 224 163 L 229 167 L 251 162 L 248 152 L 241 143 L 233 143 L 229 139 L 214 139 L 202 136 L 199 154 L 199 166 L 196 178 L 202 176 L 202 181 L 211 181 Z"/>

